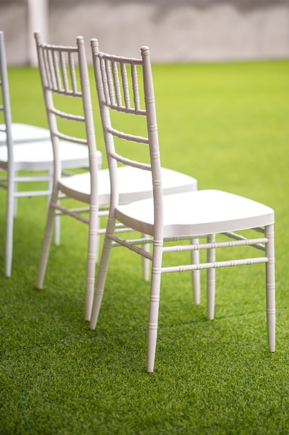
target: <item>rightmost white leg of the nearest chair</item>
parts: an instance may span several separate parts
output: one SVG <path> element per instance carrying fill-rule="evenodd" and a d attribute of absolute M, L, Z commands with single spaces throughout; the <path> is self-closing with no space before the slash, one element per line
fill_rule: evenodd
<path fill-rule="evenodd" d="M 275 265 L 274 265 L 274 225 L 265 227 L 265 237 L 268 243 L 265 245 L 266 263 L 266 311 L 269 352 L 275 352 Z"/>

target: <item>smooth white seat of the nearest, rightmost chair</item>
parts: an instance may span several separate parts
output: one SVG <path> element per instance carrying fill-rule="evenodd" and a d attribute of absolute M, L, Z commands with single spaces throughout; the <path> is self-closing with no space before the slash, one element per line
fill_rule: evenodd
<path fill-rule="evenodd" d="M 272 208 L 220 190 L 168 195 L 164 201 L 164 238 L 238 231 L 274 223 Z M 116 208 L 116 219 L 126 226 L 153 235 L 152 199 Z"/>

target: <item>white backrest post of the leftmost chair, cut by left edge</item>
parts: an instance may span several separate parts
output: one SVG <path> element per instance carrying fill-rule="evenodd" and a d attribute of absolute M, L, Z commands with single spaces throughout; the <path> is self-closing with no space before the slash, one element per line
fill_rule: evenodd
<path fill-rule="evenodd" d="M 12 117 L 10 108 L 8 73 L 7 73 L 7 60 L 6 49 L 4 41 L 4 33 L 0 31 L 0 113 L 3 115 L 3 126 L 6 132 L 6 144 L 8 145 L 8 165 L 12 169 L 13 164 L 13 142 L 12 142 Z"/>

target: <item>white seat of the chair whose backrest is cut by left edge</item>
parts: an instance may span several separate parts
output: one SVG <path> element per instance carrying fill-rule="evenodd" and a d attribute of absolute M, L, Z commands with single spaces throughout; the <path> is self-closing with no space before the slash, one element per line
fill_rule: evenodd
<path fill-rule="evenodd" d="M 50 140 L 30 142 L 13 147 L 15 170 L 51 170 L 53 167 L 53 149 Z M 83 145 L 60 142 L 62 168 L 88 167 L 88 150 Z M 98 151 L 98 165 L 102 163 L 102 154 Z M 0 162 L 8 162 L 7 147 L 0 147 Z M 3 165 L 2 165 L 3 166 Z"/>

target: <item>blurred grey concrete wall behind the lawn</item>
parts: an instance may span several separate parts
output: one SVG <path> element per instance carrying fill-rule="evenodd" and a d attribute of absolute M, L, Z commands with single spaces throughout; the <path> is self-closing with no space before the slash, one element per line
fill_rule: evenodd
<path fill-rule="evenodd" d="M 289 0 L 49 0 L 49 42 L 155 62 L 289 58 Z M 8 63 L 28 63 L 27 0 L 0 0 Z M 38 30 L 35 28 L 34 30 Z"/>

